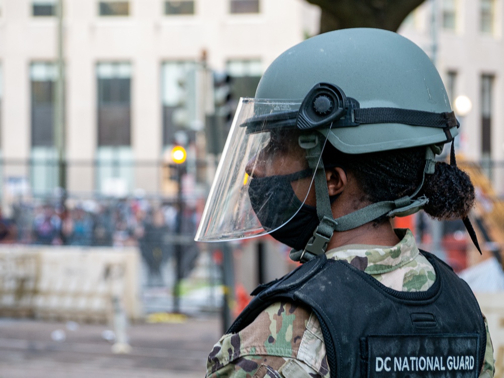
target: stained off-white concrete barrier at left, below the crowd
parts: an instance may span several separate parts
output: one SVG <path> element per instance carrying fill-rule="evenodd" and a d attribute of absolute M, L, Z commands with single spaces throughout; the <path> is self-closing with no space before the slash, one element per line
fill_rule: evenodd
<path fill-rule="evenodd" d="M 143 318 L 135 247 L 0 247 L 0 315 L 107 322 L 113 298 Z"/>

